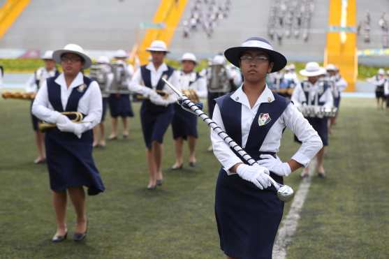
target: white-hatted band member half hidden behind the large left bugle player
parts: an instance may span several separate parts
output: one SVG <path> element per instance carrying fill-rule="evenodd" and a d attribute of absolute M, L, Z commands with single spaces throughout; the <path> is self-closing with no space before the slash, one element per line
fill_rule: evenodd
<path fill-rule="evenodd" d="M 41 85 L 46 81 L 49 77 L 54 77 L 59 75 L 57 67 L 55 66 L 55 61 L 52 59 L 52 51 L 47 50 L 42 57 L 45 62 L 45 66 L 38 68 L 29 80 L 26 83 L 26 91 L 27 93 L 37 93 L 41 88 Z M 32 105 L 33 101 L 31 101 Z M 31 109 L 31 108 L 30 108 Z M 31 112 L 31 110 L 30 110 Z M 32 120 L 32 128 L 35 132 L 35 143 L 38 149 L 38 157 L 34 160 L 34 163 L 45 163 L 46 154 L 45 154 L 45 134 L 39 131 L 38 129 L 38 121 L 39 119 L 31 113 Z"/>

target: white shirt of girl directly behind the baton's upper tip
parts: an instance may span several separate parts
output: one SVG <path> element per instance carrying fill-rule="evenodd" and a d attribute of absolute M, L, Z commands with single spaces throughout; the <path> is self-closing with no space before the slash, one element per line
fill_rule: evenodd
<path fill-rule="evenodd" d="M 199 77 L 196 80 L 196 72 L 184 73 L 184 71 L 175 71 L 178 74 L 179 88 L 193 89 L 196 91 L 198 98 L 207 98 L 207 80 L 204 77 Z M 189 85 L 190 82 L 193 82 Z"/>

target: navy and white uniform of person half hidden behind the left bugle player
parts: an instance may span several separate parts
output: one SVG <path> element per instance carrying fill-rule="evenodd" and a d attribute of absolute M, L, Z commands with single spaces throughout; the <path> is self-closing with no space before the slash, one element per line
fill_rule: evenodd
<path fill-rule="evenodd" d="M 49 77 L 54 77 L 59 75 L 59 71 L 57 71 L 57 68 L 54 68 L 52 71 L 47 71 L 45 67 L 38 68 L 31 77 L 29 77 L 29 80 L 26 82 L 25 90 L 27 93 L 37 93 L 38 90 L 41 88 L 42 84 L 46 81 Z M 32 103 L 34 101 L 31 101 L 31 107 Z M 31 112 L 31 108 L 30 108 Z M 38 118 L 34 116 L 31 112 L 31 121 L 32 121 L 32 128 L 34 131 L 38 131 Z"/>

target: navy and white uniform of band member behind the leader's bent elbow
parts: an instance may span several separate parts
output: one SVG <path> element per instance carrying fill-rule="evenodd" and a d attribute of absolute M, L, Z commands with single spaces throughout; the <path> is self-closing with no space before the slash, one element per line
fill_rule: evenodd
<path fill-rule="evenodd" d="M 334 104 L 334 98 L 330 83 L 326 80 L 317 80 L 315 84 L 311 84 L 308 80 L 304 80 L 295 87 L 293 91 L 291 101 L 296 106 L 299 105 L 314 105 L 323 106 L 325 108 L 332 108 Z M 318 132 L 323 145 L 328 145 L 328 117 L 307 117 L 309 123 Z M 297 136 L 298 137 L 298 136 Z M 300 138 L 298 138 L 300 140 Z M 300 140 L 302 141 L 302 140 Z"/>

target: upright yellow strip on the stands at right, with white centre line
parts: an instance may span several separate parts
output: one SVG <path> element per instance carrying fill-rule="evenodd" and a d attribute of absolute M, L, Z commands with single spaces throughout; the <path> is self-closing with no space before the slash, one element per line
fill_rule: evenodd
<path fill-rule="evenodd" d="M 346 91 L 355 91 L 358 76 L 355 0 L 330 0 L 324 64 L 335 64 L 348 82 Z"/>

